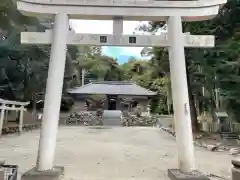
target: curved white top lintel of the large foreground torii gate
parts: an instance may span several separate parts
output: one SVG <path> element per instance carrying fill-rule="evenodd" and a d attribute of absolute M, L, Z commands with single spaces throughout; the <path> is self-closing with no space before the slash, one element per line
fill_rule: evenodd
<path fill-rule="evenodd" d="M 52 17 L 65 13 L 73 19 L 165 21 L 181 16 L 184 21 L 215 17 L 227 0 L 18 0 L 17 8 L 28 16 Z"/>

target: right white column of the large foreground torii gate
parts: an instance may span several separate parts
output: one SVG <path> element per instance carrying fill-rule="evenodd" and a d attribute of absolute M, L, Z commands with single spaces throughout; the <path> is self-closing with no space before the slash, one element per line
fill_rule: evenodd
<path fill-rule="evenodd" d="M 180 171 L 188 173 L 195 170 L 195 154 L 181 17 L 169 17 L 168 40 L 178 163 Z"/>

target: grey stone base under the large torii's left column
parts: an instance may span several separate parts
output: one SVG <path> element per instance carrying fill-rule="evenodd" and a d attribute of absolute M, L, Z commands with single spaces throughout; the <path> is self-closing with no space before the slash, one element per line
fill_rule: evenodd
<path fill-rule="evenodd" d="M 21 180 L 62 180 L 63 176 L 64 167 L 55 166 L 50 171 L 37 171 L 33 168 L 24 173 Z"/>

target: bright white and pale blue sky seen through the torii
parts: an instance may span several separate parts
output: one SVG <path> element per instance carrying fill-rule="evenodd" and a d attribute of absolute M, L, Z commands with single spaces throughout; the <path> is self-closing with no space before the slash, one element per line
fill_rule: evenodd
<path fill-rule="evenodd" d="M 142 22 L 141 22 L 142 23 Z M 112 34 L 113 22 L 100 20 L 71 20 L 71 27 L 76 33 L 90 34 Z M 123 34 L 133 34 L 135 28 L 140 24 L 139 21 L 124 21 Z M 127 62 L 133 56 L 141 58 L 142 47 L 113 47 L 104 46 L 102 51 L 104 55 L 118 59 L 120 64 Z"/>

